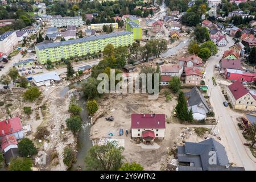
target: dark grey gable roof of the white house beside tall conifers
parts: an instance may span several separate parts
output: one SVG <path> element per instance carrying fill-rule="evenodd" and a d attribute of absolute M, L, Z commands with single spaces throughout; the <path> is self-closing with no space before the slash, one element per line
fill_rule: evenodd
<path fill-rule="evenodd" d="M 196 86 L 193 87 L 190 90 L 190 92 L 186 93 L 186 96 L 189 97 L 188 106 L 195 106 L 195 105 L 199 105 L 200 103 L 203 103 L 204 106 L 207 108 L 207 110 L 210 111 L 207 101 L 205 100 L 203 94 L 201 94 L 201 92 Z"/>

